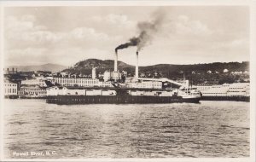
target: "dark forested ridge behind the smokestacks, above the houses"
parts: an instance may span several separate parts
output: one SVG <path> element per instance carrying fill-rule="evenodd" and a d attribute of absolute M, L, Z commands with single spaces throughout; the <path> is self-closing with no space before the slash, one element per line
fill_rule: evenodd
<path fill-rule="evenodd" d="M 63 72 L 69 73 L 82 73 L 90 74 L 92 67 L 96 67 L 97 72 L 104 72 L 106 70 L 113 70 L 113 60 L 97 60 L 97 59 L 88 59 L 85 61 L 79 61 L 73 67 L 69 67 Z M 133 74 L 135 67 L 125 62 L 118 61 L 119 71 L 125 70 L 128 73 Z M 174 73 L 204 73 L 208 71 L 212 72 L 223 72 L 224 69 L 228 69 L 229 72 L 244 72 L 249 71 L 249 62 L 214 62 L 207 64 L 191 64 L 191 65 L 173 65 L 173 64 L 158 64 L 154 66 L 139 67 L 139 72 L 148 73 L 148 72 L 160 72 L 162 75 L 170 75 Z"/>

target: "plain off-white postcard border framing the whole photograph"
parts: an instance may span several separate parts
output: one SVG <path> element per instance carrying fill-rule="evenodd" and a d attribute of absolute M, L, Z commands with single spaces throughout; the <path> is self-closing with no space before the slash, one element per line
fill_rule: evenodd
<path fill-rule="evenodd" d="M 5 159 L 3 157 L 3 79 L 1 79 L 1 154 L 0 161 L 201 161 L 201 162 L 216 162 L 216 161 L 234 161 L 245 162 L 255 161 L 255 74 L 256 74 L 256 1 L 255 0 L 169 0 L 169 1 L 2 1 L 0 2 L 0 59 L 1 68 L 3 69 L 3 9 L 5 7 L 22 7 L 22 6 L 249 6 L 250 7 L 250 157 L 249 158 L 165 158 L 165 159 Z M 0 71 L 3 76 L 3 70 Z"/>

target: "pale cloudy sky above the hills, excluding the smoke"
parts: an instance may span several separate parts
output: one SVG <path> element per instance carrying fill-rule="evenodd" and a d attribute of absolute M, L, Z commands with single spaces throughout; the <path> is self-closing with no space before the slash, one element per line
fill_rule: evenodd
<path fill-rule="evenodd" d="M 56 6 L 4 8 L 4 64 L 113 60 L 119 44 L 140 34 L 140 24 L 159 17 L 139 66 L 249 61 L 246 6 Z M 119 61 L 135 65 L 136 51 L 119 49 Z"/>

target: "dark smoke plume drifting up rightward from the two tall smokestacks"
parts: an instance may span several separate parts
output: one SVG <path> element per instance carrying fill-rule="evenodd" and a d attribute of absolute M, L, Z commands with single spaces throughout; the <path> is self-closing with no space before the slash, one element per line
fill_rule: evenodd
<path fill-rule="evenodd" d="M 154 20 L 139 22 L 137 24 L 139 35 L 131 38 L 127 43 L 120 44 L 115 48 L 115 52 L 119 49 L 126 49 L 131 46 L 137 46 L 137 51 L 140 51 L 143 47 L 148 45 L 148 43 L 151 43 L 155 33 L 160 30 L 160 26 L 163 24 L 165 14 L 162 10 L 158 10 L 153 16 Z"/>

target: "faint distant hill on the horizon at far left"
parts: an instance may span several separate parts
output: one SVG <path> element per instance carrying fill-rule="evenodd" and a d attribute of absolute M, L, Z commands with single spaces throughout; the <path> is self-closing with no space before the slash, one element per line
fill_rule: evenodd
<path fill-rule="evenodd" d="M 12 68 L 17 68 L 18 71 L 24 71 L 24 72 L 29 72 L 29 71 L 50 71 L 50 72 L 60 72 L 63 69 L 66 69 L 67 67 L 61 66 L 58 64 L 44 64 L 44 65 L 39 65 L 39 66 L 14 66 L 14 67 L 8 67 L 9 70 Z"/>

